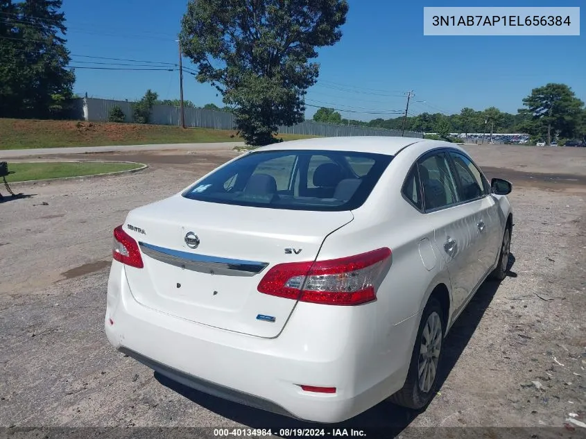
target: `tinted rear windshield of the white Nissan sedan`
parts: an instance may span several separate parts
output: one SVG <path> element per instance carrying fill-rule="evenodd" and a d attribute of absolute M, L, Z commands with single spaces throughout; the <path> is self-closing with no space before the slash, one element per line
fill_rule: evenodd
<path fill-rule="evenodd" d="M 185 198 L 273 209 L 361 206 L 393 157 L 336 150 L 250 153 L 187 189 Z"/>

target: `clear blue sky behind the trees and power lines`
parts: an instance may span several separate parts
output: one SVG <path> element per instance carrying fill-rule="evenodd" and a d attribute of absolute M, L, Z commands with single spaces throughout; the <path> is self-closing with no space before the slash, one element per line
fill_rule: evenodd
<path fill-rule="evenodd" d="M 349 3 L 342 40 L 320 49 L 315 60 L 321 65 L 320 78 L 309 89 L 308 103 L 352 110 L 341 111 L 351 119 L 388 119 L 396 116 L 366 113 L 402 110 L 404 93 L 413 90 L 413 114 L 492 105 L 516 112 L 531 89 L 550 82 L 566 83 L 586 101 L 584 26 L 579 37 L 433 37 L 423 35 L 422 18 L 424 6 L 585 6 L 583 0 Z M 64 0 L 71 64 L 126 64 L 84 56 L 178 62 L 175 40 L 186 5 L 187 0 Z M 585 10 L 580 10 L 583 22 Z M 188 59 L 184 65 L 194 68 Z M 130 100 L 150 88 L 162 99 L 179 97 L 176 71 L 76 69 L 76 77 L 74 91 L 88 96 Z M 184 76 L 184 98 L 196 105 L 223 105 L 215 89 L 189 74 Z M 308 107 L 307 116 L 316 110 Z"/>

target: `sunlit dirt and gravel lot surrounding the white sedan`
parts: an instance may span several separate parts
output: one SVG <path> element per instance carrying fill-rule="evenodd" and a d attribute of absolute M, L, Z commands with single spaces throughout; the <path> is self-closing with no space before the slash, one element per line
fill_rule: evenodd
<path fill-rule="evenodd" d="M 385 438 L 421 437 L 424 427 L 584 437 L 567 419 L 586 422 L 586 148 L 466 148 L 489 178 L 514 184 L 510 275 L 483 285 L 456 322 L 426 411 L 383 403 L 334 427 Z M 277 436 L 307 427 L 174 384 L 115 352 L 103 334 L 112 229 L 129 209 L 180 191 L 236 154 L 84 155 L 150 167 L 19 185 L 28 198 L 0 204 L 0 427 L 250 427 Z"/>

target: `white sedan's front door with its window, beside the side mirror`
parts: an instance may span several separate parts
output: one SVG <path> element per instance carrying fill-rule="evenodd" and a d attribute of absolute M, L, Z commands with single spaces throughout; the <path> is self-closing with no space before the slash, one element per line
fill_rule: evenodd
<path fill-rule="evenodd" d="M 480 282 L 492 268 L 500 250 L 502 237 L 499 206 L 490 196 L 488 182 L 476 164 L 457 151 L 451 151 L 449 156 L 454 165 L 460 200 L 469 203 L 470 208 L 476 212 L 476 227 L 479 231 L 476 279 Z"/>

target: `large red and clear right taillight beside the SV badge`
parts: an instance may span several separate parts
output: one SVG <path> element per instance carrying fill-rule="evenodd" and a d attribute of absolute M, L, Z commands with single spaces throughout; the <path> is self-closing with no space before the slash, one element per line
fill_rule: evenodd
<path fill-rule="evenodd" d="M 377 298 L 375 284 L 386 268 L 390 249 L 315 262 L 278 264 L 261 279 L 268 295 L 331 305 L 357 305 Z"/>

